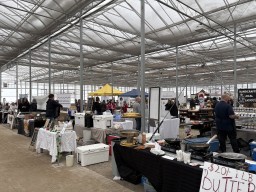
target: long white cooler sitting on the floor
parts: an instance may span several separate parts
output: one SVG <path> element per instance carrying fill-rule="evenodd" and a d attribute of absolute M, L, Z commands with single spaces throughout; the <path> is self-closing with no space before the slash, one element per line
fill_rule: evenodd
<path fill-rule="evenodd" d="M 109 158 L 109 145 L 104 143 L 77 147 L 76 151 L 77 163 L 81 166 L 105 162 Z"/>

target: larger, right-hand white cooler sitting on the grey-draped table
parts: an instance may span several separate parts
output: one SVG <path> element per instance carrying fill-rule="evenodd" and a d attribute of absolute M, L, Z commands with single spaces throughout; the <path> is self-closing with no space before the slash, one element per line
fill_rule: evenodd
<path fill-rule="evenodd" d="M 93 127 L 106 129 L 113 126 L 113 115 L 93 115 Z"/>

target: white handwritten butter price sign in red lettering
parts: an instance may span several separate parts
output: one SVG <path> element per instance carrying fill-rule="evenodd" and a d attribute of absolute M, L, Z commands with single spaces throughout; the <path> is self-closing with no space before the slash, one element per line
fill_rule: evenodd
<path fill-rule="evenodd" d="M 200 192 L 256 192 L 256 175 L 204 162 Z"/>

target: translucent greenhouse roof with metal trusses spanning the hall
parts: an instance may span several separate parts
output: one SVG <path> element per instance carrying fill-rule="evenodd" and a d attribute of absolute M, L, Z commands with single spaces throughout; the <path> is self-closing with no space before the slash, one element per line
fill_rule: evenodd
<path fill-rule="evenodd" d="M 65 82 L 81 85 L 110 83 L 112 74 L 115 86 L 136 87 L 140 73 L 142 88 L 255 82 L 255 1 L 145 0 L 145 19 L 140 3 L 3 1 L 1 71 L 49 91 L 64 70 Z"/>

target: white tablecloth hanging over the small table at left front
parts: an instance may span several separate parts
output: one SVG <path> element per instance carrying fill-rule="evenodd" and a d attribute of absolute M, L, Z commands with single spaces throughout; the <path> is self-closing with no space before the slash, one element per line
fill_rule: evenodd
<path fill-rule="evenodd" d="M 66 131 L 61 134 L 61 145 L 59 152 L 73 152 L 76 150 L 76 133 L 75 131 Z M 50 132 L 46 129 L 39 129 L 36 141 L 36 151 L 40 153 L 40 149 L 46 149 L 52 156 L 52 162 L 57 160 L 58 150 L 57 150 L 57 133 Z"/>

